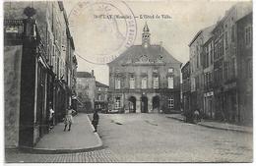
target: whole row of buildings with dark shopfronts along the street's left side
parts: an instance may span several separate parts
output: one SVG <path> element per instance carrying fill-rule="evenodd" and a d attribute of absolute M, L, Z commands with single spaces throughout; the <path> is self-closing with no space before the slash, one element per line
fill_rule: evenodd
<path fill-rule="evenodd" d="M 33 146 L 76 109 L 75 45 L 62 2 L 4 3 L 5 144 Z"/>

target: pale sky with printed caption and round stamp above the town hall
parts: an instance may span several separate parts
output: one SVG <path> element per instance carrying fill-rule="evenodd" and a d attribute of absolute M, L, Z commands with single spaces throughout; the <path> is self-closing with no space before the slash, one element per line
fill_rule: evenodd
<path fill-rule="evenodd" d="M 160 44 L 161 41 L 162 46 L 175 59 L 185 64 L 189 60 L 188 44 L 195 34 L 202 28 L 215 25 L 218 20 L 222 19 L 225 11 L 237 1 L 79 2 L 81 1 L 64 1 L 76 53 L 79 55 L 77 56 L 78 71 L 91 72 L 94 70 L 96 81 L 108 84 L 109 74 L 105 63 L 112 60 L 109 57 L 116 57 L 127 49 L 124 46 L 125 43 L 128 43 L 129 39 L 127 38 L 130 37 L 129 41 L 134 40 L 132 44 L 141 44 L 142 31 L 146 22 L 151 32 L 151 44 Z M 100 15 L 135 16 L 138 18 L 105 19 L 99 18 Z M 149 19 L 148 16 L 152 15 L 155 18 Z M 157 15 L 160 18 L 157 18 Z M 161 18 L 161 15 L 169 17 Z M 133 24 L 129 24 L 132 21 L 135 21 L 135 27 L 131 26 Z M 129 30 L 136 32 L 129 33 Z M 103 62 L 99 62 L 98 57 L 107 58 Z"/>

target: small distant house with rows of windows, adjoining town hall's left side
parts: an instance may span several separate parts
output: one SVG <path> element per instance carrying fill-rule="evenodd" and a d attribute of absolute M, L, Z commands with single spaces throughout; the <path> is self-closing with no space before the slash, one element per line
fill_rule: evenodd
<path fill-rule="evenodd" d="M 108 110 L 108 88 L 109 86 L 103 83 L 96 82 L 96 99 L 95 108 L 101 111 Z"/>

